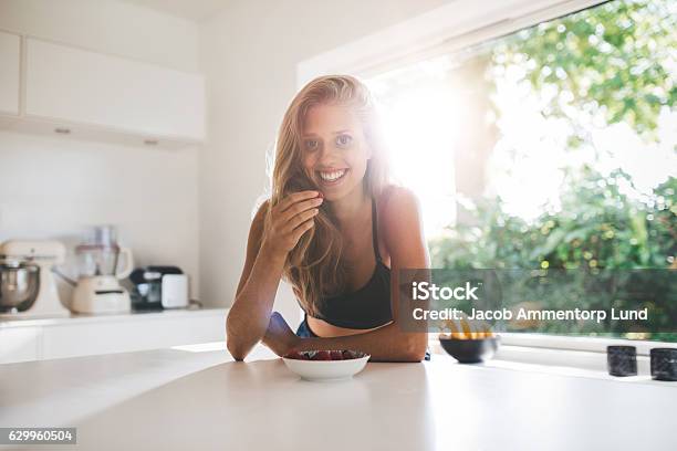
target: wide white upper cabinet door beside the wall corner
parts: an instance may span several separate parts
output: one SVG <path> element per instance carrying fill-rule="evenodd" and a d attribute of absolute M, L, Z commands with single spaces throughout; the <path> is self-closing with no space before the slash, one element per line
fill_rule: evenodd
<path fill-rule="evenodd" d="M 28 117 L 201 140 L 201 75 L 27 38 Z"/>

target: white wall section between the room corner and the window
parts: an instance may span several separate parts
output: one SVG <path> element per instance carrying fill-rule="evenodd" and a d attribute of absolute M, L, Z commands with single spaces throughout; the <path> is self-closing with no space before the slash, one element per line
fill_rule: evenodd
<path fill-rule="evenodd" d="M 200 276 L 228 305 L 242 270 L 252 208 L 267 185 L 265 153 L 296 92 L 296 64 L 452 0 L 233 0 L 200 23 L 209 143 L 200 154 Z M 275 308 L 293 321 L 289 287 Z"/>

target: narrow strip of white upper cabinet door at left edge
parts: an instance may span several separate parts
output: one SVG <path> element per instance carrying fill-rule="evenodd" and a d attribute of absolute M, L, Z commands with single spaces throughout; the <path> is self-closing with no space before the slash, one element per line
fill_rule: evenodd
<path fill-rule="evenodd" d="M 0 114 L 19 115 L 21 38 L 0 31 Z"/>

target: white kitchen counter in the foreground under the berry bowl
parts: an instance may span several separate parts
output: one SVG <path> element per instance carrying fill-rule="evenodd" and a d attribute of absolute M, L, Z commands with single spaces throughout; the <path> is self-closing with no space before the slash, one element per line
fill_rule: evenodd
<path fill-rule="evenodd" d="M 309 382 L 263 346 L 248 360 L 232 361 L 221 343 L 0 365 L 0 426 L 77 428 L 77 445 L 41 450 L 675 447 L 677 384 L 445 355 Z"/>

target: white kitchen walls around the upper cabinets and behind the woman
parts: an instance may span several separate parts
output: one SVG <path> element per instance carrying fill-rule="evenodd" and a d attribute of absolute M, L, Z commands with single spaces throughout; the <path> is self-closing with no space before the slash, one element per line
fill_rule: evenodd
<path fill-rule="evenodd" d="M 208 144 L 178 154 L 1 133 L 0 239 L 115 222 L 139 262 L 185 255 L 204 302 L 229 305 L 296 64 L 449 1 L 231 0 L 198 27 L 121 1 L 1 0 L 0 29 L 202 72 L 209 123 Z M 280 301 L 291 317 L 289 289 Z"/>

